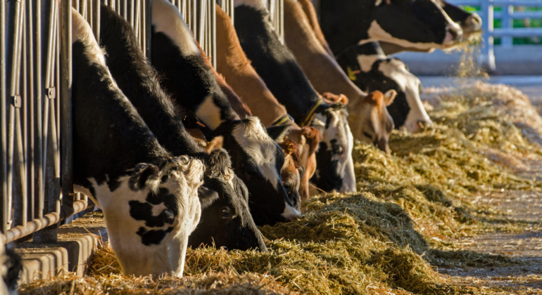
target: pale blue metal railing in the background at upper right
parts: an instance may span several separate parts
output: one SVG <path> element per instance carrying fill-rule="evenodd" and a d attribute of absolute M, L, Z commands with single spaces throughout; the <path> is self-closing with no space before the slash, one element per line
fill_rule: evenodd
<path fill-rule="evenodd" d="M 483 46 L 479 62 L 495 70 L 495 55 L 493 53 L 493 38 L 500 37 L 502 46 L 512 46 L 514 37 L 541 37 L 540 27 L 512 27 L 512 20 L 526 18 L 542 18 L 542 11 L 515 11 L 515 6 L 542 7 L 538 0 L 450 0 L 450 4 L 458 6 L 480 6 L 482 18 Z M 494 6 L 501 6 L 502 11 L 494 12 Z M 493 20 L 500 19 L 501 28 L 493 28 Z"/>

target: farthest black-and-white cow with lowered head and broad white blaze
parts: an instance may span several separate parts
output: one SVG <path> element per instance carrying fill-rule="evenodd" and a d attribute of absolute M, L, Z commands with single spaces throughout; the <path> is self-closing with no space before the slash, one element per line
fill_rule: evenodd
<path fill-rule="evenodd" d="M 337 55 L 336 60 L 363 91 L 385 93 L 393 89 L 397 92 L 387 107 L 396 128 L 404 126 L 408 132 L 415 133 L 420 125 L 431 124 L 420 100 L 420 79 L 410 73 L 401 60 L 385 55 L 378 42 L 351 46 Z"/>

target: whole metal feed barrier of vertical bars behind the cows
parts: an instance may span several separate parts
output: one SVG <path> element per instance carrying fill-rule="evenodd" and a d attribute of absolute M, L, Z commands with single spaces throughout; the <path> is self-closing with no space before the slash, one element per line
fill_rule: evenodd
<path fill-rule="evenodd" d="M 151 0 L 102 0 L 134 27 L 151 56 Z M 215 3 L 233 19 L 233 0 L 171 0 L 216 60 Z M 87 209 L 73 192 L 70 8 L 99 39 L 99 0 L 0 0 L 0 220 L 6 243 L 57 240 L 60 221 Z M 280 25 L 282 0 L 271 0 Z M 279 32 L 284 32 L 279 30 Z"/>

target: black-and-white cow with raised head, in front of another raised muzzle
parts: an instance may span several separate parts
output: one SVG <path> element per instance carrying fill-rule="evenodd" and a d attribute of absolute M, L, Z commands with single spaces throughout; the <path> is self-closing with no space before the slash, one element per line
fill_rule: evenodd
<path fill-rule="evenodd" d="M 320 24 L 333 53 L 369 41 L 405 48 L 446 48 L 461 27 L 435 0 L 321 0 Z"/>

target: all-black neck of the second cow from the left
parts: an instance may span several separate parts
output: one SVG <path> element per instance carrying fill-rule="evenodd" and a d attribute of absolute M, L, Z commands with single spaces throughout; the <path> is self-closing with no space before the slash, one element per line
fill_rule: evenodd
<path fill-rule="evenodd" d="M 156 71 L 141 52 L 130 24 L 103 4 L 100 39 L 111 74 L 160 144 L 174 155 L 202 152 L 175 114 L 170 97 L 160 88 Z"/>

